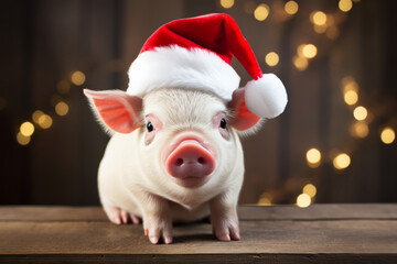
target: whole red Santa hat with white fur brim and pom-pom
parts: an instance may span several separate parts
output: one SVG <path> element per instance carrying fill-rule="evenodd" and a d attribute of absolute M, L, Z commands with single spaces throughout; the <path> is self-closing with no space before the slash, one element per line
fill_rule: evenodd
<path fill-rule="evenodd" d="M 128 72 L 127 92 L 143 97 L 162 87 L 202 89 L 226 101 L 239 86 L 230 66 L 236 56 L 253 77 L 245 105 L 259 118 L 275 118 L 287 105 L 287 92 L 273 74 L 262 75 L 236 22 L 227 14 L 207 14 L 162 25 L 144 43 Z"/>

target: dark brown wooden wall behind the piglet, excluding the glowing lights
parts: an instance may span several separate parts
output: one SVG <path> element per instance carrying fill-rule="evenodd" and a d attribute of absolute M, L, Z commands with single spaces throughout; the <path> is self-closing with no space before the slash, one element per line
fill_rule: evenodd
<path fill-rule="evenodd" d="M 96 170 L 108 138 L 94 121 L 82 88 L 126 89 L 126 72 L 154 30 L 210 12 L 234 16 L 262 70 L 276 73 L 289 95 L 286 112 L 244 140 L 240 202 L 255 204 L 269 191 L 276 202 L 293 204 L 309 182 L 318 187 L 315 202 L 397 201 L 396 142 L 384 145 L 379 140 L 379 129 L 395 125 L 397 117 L 396 2 L 354 3 L 334 41 L 315 34 L 308 18 L 313 10 L 336 12 L 336 0 L 299 2 L 298 14 L 286 22 L 258 22 L 244 11 L 246 2 L 225 10 L 215 0 L 2 1 L 0 204 L 98 205 Z M 319 48 L 304 72 L 291 63 L 301 43 Z M 271 51 L 280 63 L 270 68 L 264 57 Z M 247 74 L 236 61 L 234 66 L 245 85 Z M 74 70 L 85 73 L 87 80 L 65 96 L 68 114 L 56 117 L 50 98 Z M 363 140 L 348 134 L 353 117 L 341 92 L 345 76 L 358 82 L 360 103 L 379 117 Z M 32 142 L 21 146 L 15 141 L 19 125 L 36 109 L 53 114 L 53 127 L 36 130 Z M 383 114 L 376 114 L 379 111 Z M 325 160 L 315 169 L 305 163 L 311 147 L 321 150 Z M 328 155 L 333 150 L 351 153 L 348 168 L 332 167 Z"/>

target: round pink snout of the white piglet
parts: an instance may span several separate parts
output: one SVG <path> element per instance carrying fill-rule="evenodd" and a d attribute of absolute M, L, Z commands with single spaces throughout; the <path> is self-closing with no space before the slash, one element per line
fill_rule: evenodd
<path fill-rule="evenodd" d="M 200 179 L 214 170 L 215 158 L 200 140 L 186 139 L 182 140 L 167 157 L 165 168 L 179 182 L 201 182 Z M 191 184 L 182 185 L 193 187 L 190 186 Z"/>

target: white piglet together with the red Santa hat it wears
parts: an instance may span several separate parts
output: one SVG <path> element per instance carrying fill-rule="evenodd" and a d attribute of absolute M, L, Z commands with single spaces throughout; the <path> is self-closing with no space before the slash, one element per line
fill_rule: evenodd
<path fill-rule="evenodd" d="M 229 65 L 233 54 L 254 78 L 243 88 Z M 226 14 L 161 26 L 132 63 L 129 78 L 127 91 L 84 90 L 111 134 L 98 170 L 110 221 L 141 219 L 151 243 L 169 244 L 173 221 L 211 216 L 218 240 L 239 240 L 239 134 L 283 111 L 282 82 L 261 74 Z"/>

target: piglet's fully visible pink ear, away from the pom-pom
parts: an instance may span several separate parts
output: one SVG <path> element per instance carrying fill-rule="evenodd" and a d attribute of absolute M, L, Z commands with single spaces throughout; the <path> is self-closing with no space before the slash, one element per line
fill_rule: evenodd
<path fill-rule="evenodd" d="M 121 90 L 93 91 L 84 89 L 92 107 L 106 128 L 130 133 L 140 125 L 142 99 Z"/>

